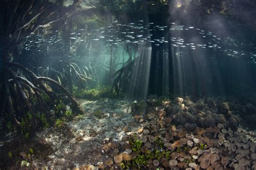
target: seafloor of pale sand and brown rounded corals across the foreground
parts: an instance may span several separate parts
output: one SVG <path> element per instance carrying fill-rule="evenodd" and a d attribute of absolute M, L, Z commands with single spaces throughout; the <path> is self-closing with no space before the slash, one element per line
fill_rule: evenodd
<path fill-rule="evenodd" d="M 26 160 L 23 168 L 256 169 L 256 135 L 244 126 L 247 116 L 253 120 L 253 102 L 152 97 L 144 109 L 109 98 L 80 102 L 86 114 L 64 129 L 9 143 Z"/>

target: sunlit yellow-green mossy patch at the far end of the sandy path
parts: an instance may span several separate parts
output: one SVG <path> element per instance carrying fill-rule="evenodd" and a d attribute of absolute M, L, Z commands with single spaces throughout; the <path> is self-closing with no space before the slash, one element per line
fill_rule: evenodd
<path fill-rule="evenodd" d="M 115 98 L 117 97 L 117 93 L 115 90 L 111 90 L 110 87 L 107 86 L 98 86 L 93 89 L 82 89 L 77 90 L 77 88 L 74 88 L 75 97 L 77 98 L 84 98 L 87 100 L 98 100 L 99 98 Z"/>

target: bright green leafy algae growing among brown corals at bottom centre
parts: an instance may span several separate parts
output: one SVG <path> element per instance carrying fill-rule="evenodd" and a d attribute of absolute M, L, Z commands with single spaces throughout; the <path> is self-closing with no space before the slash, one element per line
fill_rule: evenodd
<path fill-rule="evenodd" d="M 119 164 L 122 169 L 145 169 L 145 165 L 147 164 L 147 160 L 149 159 L 157 159 L 160 161 L 162 158 L 170 159 L 171 153 L 173 151 L 169 151 L 165 148 L 163 140 L 161 137 L 156 137 L 156 140 L 153 143 L 153 148 L 151 150 L 146 150 L 142 152 L 143 142 L 137 138 L 136 135 L 133 135 L 129 139 L 129 144 L 131 145 L 131 149 L 133 152 L 137 152 L 137 157 L 134 157 L 130 161 L 124 161 Z"/>

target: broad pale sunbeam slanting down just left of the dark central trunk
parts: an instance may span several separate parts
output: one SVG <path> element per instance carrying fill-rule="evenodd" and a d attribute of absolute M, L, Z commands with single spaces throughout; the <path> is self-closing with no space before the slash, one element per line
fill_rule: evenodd
<path fill-rule="evenodd" d="M 131 72 L 129 97 L 133 100 L 146 100 L 149 88 L 152 47 L 146 42 L 138 45 L 138 56 Z"/>

